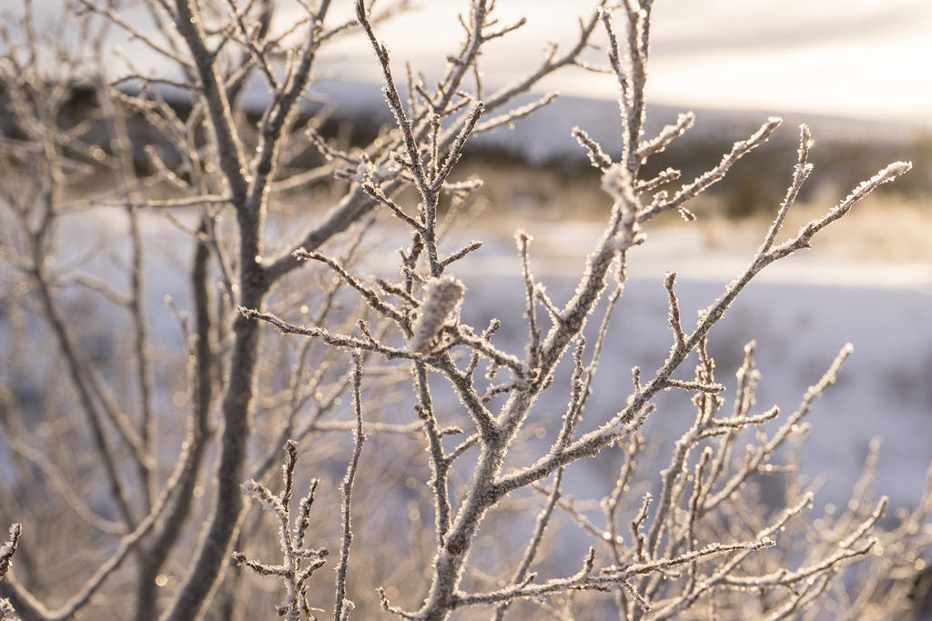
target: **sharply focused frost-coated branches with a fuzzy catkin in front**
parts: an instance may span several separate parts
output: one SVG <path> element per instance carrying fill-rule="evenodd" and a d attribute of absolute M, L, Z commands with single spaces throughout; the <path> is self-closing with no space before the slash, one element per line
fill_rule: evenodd
<path fill-rule="evenodd" d="M 474 30 L 471 32 L 480 39 L 484 10 L 484 3 L 473 4 Z M 849 565 L 872 559 L 871 553 L 885 536 L 878 533 L 877 523 L 884 514 L 886 501 L 884 498 L 874 501 L 863 490 L 856 493 L 857 506 L 848 513 L 820 519 L 829 524 L 828 531 L 814 529 L 814 521 L 807 516 L 812 510 L 814 492 L 798 477 L 798 461 L 794 461 L 793 455 L 786 455 L 788 447 L 799 444 L 804 438 L 808 427 L 802 419 L 810 412 L 815 399 L 834 382 L 849 350 L 843 349 L 823 378 L 806 392 L 799 409 L 785 417 L 774 430 L 765 425 L 777 425 L 779 408 L 754 411 L 760 374 L 754 368 L 753 344 L 747 346 L 744 362 L 737 371 L 738 394 L 732 412 L 723 412 L 724 385 L 716 379 L 716 365 L 706 348 L 710 331 L 762 269 L 807 248 L 813 236 L 841 217 L 857 200 L 908 169 L 901 164 L 884 169 L 798 236 L 774 246 L 787 210 L 812 170 L 807 161 L 812 145 L 807 128 L 801 128 L 801 147 L 787 197 L 747 269 L 725 287 L 718 299 L 700 311 L 695 327 L 689 330 L 682 325 L 675 275 L 668 275 L 665 288 L 673 334 L 665 362 L 652 377 L 642 378 L 640 371 L 636 371 L 633 390 L 618 395 L 617 401 L 624 404 L 621 410 L 597 412 L 601 424 L 596 429 L 588 433 L 577 430 L 577 422 L 592 391 L 599 353 L 610 341 L 610 318 L 624 292 L 627 256 L 646 240 L 642 228 L 668 209 L 677 209 L 685 220 L 693 220 L 695 214 L 686 208 L 686 203 L 719 182 L 740 158 L 767 142 L 781 122 L 776 117 L 768 118 L 747 139 L 734 142 L 718 165 L 692 182 L 681 184 L 678 189 L 660 189 L 678 182 L 680 172 L 676 169 L 665 169 L 650 179 L 640 179 L 644 160 L 670 147 L 692 127 L 694 117 L 680 115 L 675 124 L 667 126 L 657 136 L 644 136 L 643 89 L 647 79 L 651 3 L 628 2 L 621 10 L 628 20 L 625 40 L 619 40 L 615 34 L 610 11 L 599 10 L 596 14 L 609 35 L 611 71 L 622 92 L 624 148 L 619 161 L 612 161 L 606 155 L 607 150 L 584 129 L 573 131 L 593 166 L 602 171 L 602 188 L 613 205 L 605 231 L 588 255 L 576 290 L 563 306 L 550 299 L 541 280 L 531 273 L 531 236 L 523 231 L 516 235 L 525 284 L 524 317 L 528 324 L 528 342 L 523 358 L 519 358 L 491 344 L 493 334 L 500 327 L 498 321 L 491 322 L 481 337 L 476 337 L 479 331 L 461 322 L 459 317 L 456 323 L 451 321 L 463 304 L 464 287 L 456 278 L 444 275 L 448 263 L 440 258 L 437 191 L 483 107 L 473 106 L 471 112 L 461 116 L 464 125 L 456 134 L 451 154 L 441 159 L 438 155 L 441 115 L 425 119 L 421 126 L 409 117 L 394 84 L 388 50 L 378 42 L 363 5 L 358 4 L 358 17 L 382 66 L 387 101 L 404 142 L 404 155 L 394 152 L 394 158 L 406 170 L 420 200 L 413 208 L 405 207 L 389 196 L 384 186 L 363 181 L 363 192 L 390 209 L 411 234 L 410 247 L 401 252 L 401 282 L 378 281 L 382 291 L 398 300 L 398 306 L 382 301 L 375 290 L 349 277 L 346 270 L 338 271 L 372 311 L 394 322 L 397 336 L 404 337 L 407 348 L 401 350 L 385 344 L 363 323 L 360 327 L 365 338 L 357 339 L 318 327 L 301 328 L 267 313 L 249 311 L 247 316 L 337 348 L 359 347 L 389 360 L 403 358 L 405 364 L 410 365 L 417 400 L 415 412 L 422 422 L 432 473 L 429 488 L 434 510 L 435 549 L 428 595 L 418 603 L 416 611 L 407 611 L 391 603 L 388 590 L 380 590 L 382 606 L 391 614 L 403 618 L 445 619 L 459 608 L 492 605 L 495 618 L 501 619 L 519 602 L 529 601 L 529 606 L 560 616 L 571 608 L 570 602 L 580 599 L 580 593 L 592 594 L 587 601 L 594 607 L 599 605 L 596 596 L 605 593 L 610 594 L 618 614 L 626 618 L 678 618 L 686 611 L 691 614 L 713 614 L 714 611 L 722 618 L 729 618 L 755 605 L 758 606 L 755 614 L 779 618 L 826 599 L 832 592 L 829 587 L 839 584 L 836 578 Z M 464 24 L 470 28 L 468 22 Z M 428 108 L 435 106 L 423 88 L 416 85 L 413 90 L 420 94 L 420 103 Z M 412 95 L 412 110 L 418 109 L 414 105 L 416 99 L 417 96 Z M 460 107 L 465 105 L 463 101 Z M 447 135 L 452 138 L 452 134 Z M 644 197 L 654 191 L 657 192 L 650 203 L 643 204 Z M 417 213 L 417 217 L 410 215 L 412 213 Z M 466 255 L 459 251 L 449 256 L 459 260 Z M 335 265 L 332 260 L 314 258 Z M 615 288 L 602 311 L 592 353 L 586 354 L 583 329 L 596 315 L 610 279 L 614 280 Z M 418 289 L 420 299 L 415 295 Z M 546 311 L 545 315 L 538 312 L 539 305 Z M 448 338 L 444 340 L 445 336 Z M 465 370 L 459 364 L 460 358 L 453 355 L 457 346 L 471 350 Z M 553 439 L 552 444 L 549 450 L 526 457 L 520 449 L 524 448 L 522 434 L 528 430 L 526 424 L 532 406 L 544 390 L 551 391 L 549 399 L 555 398 L 555 368 L 569 350 L 574 355 L 569 388 L 565 387 L 563 394 L 566 408 L 552 425 L 555 428 L 548 429 L 544 435 Z M 691 357 L 698 358 L 694 376 L 684 379 L 678 376 L 678 371 L 681 372 Z M 487 385 L 481 385 L 474 376 L 483 359 L 488 363 Z M 497 372 L 503 367 L 512 371 L 513 377 L 497 383 Z M 438 420 L 440 412 L 432 398 L 429 373 L 448 382 L 475 426 L 473 435 L 452 448 L 445 447 L 443 442 L 443 427 Z M 655 478 L 642 466 L 638 467 L 641 452 L 648 444 L 640 436 L 640 428 L 654 410 L 653 398 L 671 389 L 690 397 L 695 418 L 692 426 L 677 440 L 668 465 Z M 504 398 L 493 406 L 499 396 Z M 593 499 L 605 509 L 604 520 L 596 520 L 580 509 L 571 497 L 564 495 L 564 471 L 584 458 L 619 445 L 623 446 L 624 465 L 609 495 L 601 500 Z M 747 446 L 747 451 L 741 453 L 737 447 L 743 445 Z M 475 446 L 480 449 L 475 461 L 468 465 L 460 462 L 460 466 L 471 467 L 472 474 L 457 487 L 456 493 L 451 493 L 453 478 L 450 473 L 454 471 L 454 462 L 471 454 Z M 521 457 L 515 457 L 516 454 Z M 518 461 L 520 459 L 524 461 Z M 505 469 L 506 462 L 514 466 Z M 459 474 L 460 471 L 455 472 Z M 761 477 L 783 477 L 786 490 L 782 506 L 770 507 L 761 502 Z M 551 478 L 552 483 L 546 485 L 544 481 Z M 632 493 L 634 488 L 646 491 L 653 483 L 659 483 L 659 493 L 655 497 L 650 493 Z M 523 547 L 524 554 L 517 560 L 514 570 L 504 568 L 500 573 L 500 576 L 507 576 L 504 579 L 500 576 L 468 577 L 479 574 L 476 566 L 480 563 L 473 562 L 471 555 L 481 554 L 480 533 L 492 520 L 490 516 L 497 510 L 514 507 L 513 496 L 528 491 L 542 493 L 545 497 L 527 546 Z M 641 497 L 644 501 L 638 508 L 637 498 Z M 548 562 L 543 558 L 548 533 L 558 533 L 555 516 L 559 514 L 575 521 L 596 539 L 592 551 L 580 555 L 583 568 L 575 574 L 567 575 L 562 571 L 565 563 Z M 619 527 L 619 522 L 625 523 L 625 520 L 630 524 L 630 536 Z M 916 541 L 921 546 L 929 543 L 925 536 Z M 535 567 L 549 569 L 549 577 Z M 879 588 L 870 590 L 863 606 L 882 597 Z M 755 603 L 755 596 L 759 604 Z M 857 605 L 851 607 L 857 608 Z"/>

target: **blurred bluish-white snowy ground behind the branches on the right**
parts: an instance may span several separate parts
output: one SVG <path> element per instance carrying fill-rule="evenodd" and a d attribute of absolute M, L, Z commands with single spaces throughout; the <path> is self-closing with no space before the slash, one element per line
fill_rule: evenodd
<path fill-rule="evenodd" d="M 592 247 L 600 228 L 567 222 L 531 223 L 527 230 L 535 236 L 532 268 L 561 304 L 575 288 L 584 251 Z M 520 353 L 524 302 L 514 242 L 504 232 L 497 239 L 472 233 L 463 238 L 486 238 L 487 244 L 455 269 L 470 287 L 465 315 L 479 327 L 487 317 L 500 317 L 504 326 L 498 338 L 512 341 L 513 351 Z M 649 233 L 648 242 L 631 254 L 629 282 L 615 311 L 584 428 L 597 426 L 624 404 L 632 366 L 639 365 L 646 374 L 665 358 L 671 344 L 665 272 L 678 273 L 682 317 L 688 326 L 695 311 L 715 300 L 747 265 L 753 250 L 709 248 L 687 226 Z M 711 332 L 711 353 L 718 361 L 719 381 L 731 389 L 743 345 L 756 340 L 762 374 L 757 409 L 763 412 L 776 404 L 786 416 L 843 344 L 854 344 L 840 381 L 829 387 L 810 414 L 814 428 L 803 470 L 811 478 L 828 478 L 819 494 L 822 502 L 843 503 L 870 439 L 881 438 L 877 489 L 890 495 L 894 506 L 914 505 L 932 461 L 930 311 L 932 265 L 826 261 L 817 251 L 810 252 L 773 265 L 747 287 Z M 678 375 L 692 379 L 692 364 L 684 365 Z M 692 409 L 688 398 L 663 397 L 646 430 L 650 437 L 672 441 L 692 423 Z M 732 398 L 730 390 L 728 407 Z M 537 412 L 558 414 L 562 408 L 563 403 L 556 402 L 552 412 L 543 412 L 551 409 L 544 403 Z"/>

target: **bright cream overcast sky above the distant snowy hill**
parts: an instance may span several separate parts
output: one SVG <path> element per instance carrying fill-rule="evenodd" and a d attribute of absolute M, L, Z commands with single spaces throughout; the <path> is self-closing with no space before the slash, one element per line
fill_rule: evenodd
<path fill-rule="evenodd" d="M 499 0 L 502 21 L 525 15 L 528 25 L 489 45 L 482 62 L 489 83 L 533 67 L 546 41 L 569 42 L 577 32 L 577 16 L 592 4 Z M 417 6 L 380 24 L 377 33 L 399 71 L 411 61 L 438 74 L 445 55 L 462 38 L 456 14 L 466 3 L 420 0 Z M 657 0 L 651 34 L 651 101 L 846 115 L 932 128 L 930 0 Z M 357 38 L 340 42 L 327 66 L 377 79 L 371 50 L 359 43 Z M 591 58 L 602 61 L 604 54 L 595 52 Z M 546 87 L 592 97 L 616 93 L 610 76 L 572 69 Z"/>

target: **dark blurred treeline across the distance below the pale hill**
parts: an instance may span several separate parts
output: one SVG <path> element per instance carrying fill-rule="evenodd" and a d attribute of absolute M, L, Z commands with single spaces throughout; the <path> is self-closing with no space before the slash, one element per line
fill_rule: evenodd
<path fill-rule="evenodd" d="M 0 84 L 0 108 L 6 104 L 5 88 Z M 184 99 L 170 100 L 170 104 L 181 119 L 184 120 L 190 114 L 190 105 Z M 301 121 L 307 120 L 319 110 L 319 104 L 308 105 L 306 118 Z M 95 111 L 99 111 L 99 108 L 94 89 L 76 85 L 72 87 L 71 100 L 62 108 L 60 122 L 63 127 L 73 126 L 87 119 Z M 254 116 L 258 116 L 258 113 Z M 378 115 L 349 117 L 341 115 L 337 105 L 333 114 L 323 120 L 319 132 L 325 139 L 336 141 L 343 148 L 351 148 L 371 142 L 382 125 L 383 118 Z M 12 138 L 21 135 L 20 129 L 13 127 L 8 117 L 0 117 L 0 132 Z M 142 115 L 132 119 L 130 132 L 140 172 L 147 171 L 144 148 L 149 145 L 159 149 L 162 159 L 169 166 L 177 161 L 178 154 L 172 152 L 170 143 L 160 140 L 158 130 L 146 122 Z M 100 132 L 91 132 L 90 139 L 93 140 L 93 136 L 98 134 L 102 139 L 98 142 L 99 146 L 108 150 L 108 145 L 103 143 L 103 127 Z M 691 181 L 715 166 L 721 156 L 731 150 L 733 141 L 738 138 L 740 136 L 710 137 L 707 132 L 695 135 L 688 132 L 677 142 L 676 148 L 654 156 L 643 170 L 643 174 L 650 177 L 659 170 L 673 168 L 682 171 L 682 181 Z M 244 139 L 249 140 L 250 137 L 246 136 Z M 774 209 L 774 205 L 786 191 L 791 167 L 796 161 L 796 149 L 796 142 L 789 140 L 784 134 L 774 137 L 754 154 L 739 161 L 723 181 L 713 186 L 709 194 L 722 202 L 726 213 L 735 217 L 762 209 Z M 77 156 L 80 159 L 80 156 Z M 596 169 L 589 166 L 583 149 L 580 149 L 578 156 L 558 155 L 542 162 L 531 162 L 517 150 L 483 142 L 470 146 L 464 160 L 464 164 L 472 161 L 500 169 L 520 169 L 526 173 L 539 169 L 555 176 L 560 182 L 568 183 L 588 184 L 591 178 L 598 174 Z M 873 139 L 853 139 L 845 142 L 816 140 L 816 148 L 810 155 L 810 161 L 818 174 L 803 188 L 801 199 L 806 200 L 824 189 L 838 193 L 847 192 L 858 182 L 870 178 L 874 172 L 895 160 L 911 160 L 913 169 L 896 184 L 884 186 L 878 192 L 894 193 L 911 200 L 932 197 L 932 133 L 917 131 L 911 141 L 907 142 L 883 142 Z M 321 162 L 320 155 L 308 142 L 308 148 L 297 153 L 289 164 L 299 169 L 316 166 Z M 676 184 L 673 187 L 676 187 Z"/>

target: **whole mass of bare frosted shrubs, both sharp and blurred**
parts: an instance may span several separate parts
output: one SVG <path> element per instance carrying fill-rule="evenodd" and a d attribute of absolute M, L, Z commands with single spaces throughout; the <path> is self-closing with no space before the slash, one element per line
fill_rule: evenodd
<path fill-rule="evenodd" d="M 618 407 L 588 412 L 596 426 L 583 430 L 629 252 L 659 214 L 695 219 L 688 201 L 780 119 L 690 182 L 678 184 L 674 169 L 642 178 L 644 162 L 693 123 L 684 114 L 657 136 L 643 133 L 651 2 L 599 3 L 571 47 L 554 47 L 514 85 L 488 93 L 481 50 L 523 24 L 501 24 L 493 4 L 469 3 L 445 74 L 428 85 L 409 70 L 404 95 L 377 36 L 397 7 L 379 13 L 362 0 L 343 23 L 326 0 L 297 3 L 301 17 L 287 23 L 269 0 L 152 0 L 142 13 L 79 0 L 51 28 L 36 25 L 28 3 L 5 24 L 0 519 L 25 526 L 0 551 L 0 614 L 296 619 L 331 601 L 335 619 L 917 613 L 929 490 L 885 520 L 872 447 L 848 506 L 814 518 L 816 490 L 799 476 L 804 418 L 850 347 L 789 415 L 757 408 L 754 344 L 726 408 L 706 348 L 752 278 L 809 248 L 910 165 L 879 170 L 778 241 L 812 171 L 803 126 L 787 194 L 747 268 L 693 327 L 669 274 L 665 360 L 656 371 L 635 368 L 630 387 L 616 385 Z M 143 13 L 148 25 L 135 25 Z M 109 74 L 111 29 L 173 73 L 144 74 L 127 58 L 127 74 Z M 395 126 L 350 149 L 322 134 L 332 110 L 311 110 L 304 98 L 320 49 L 360 31 Z M 576 290 L 558 301 L 533 274 L 532 237 L 519 231 L 523 320 L 469 325 L 473 292 L 455 272 L 481 243 L 455 246 L 446 235 L 482 182 L 452 173 L 475 134 L 553 100 L 514 107 L 543 77 L 592 70 L 582 54 L 596 31 L 608 35 L 623 148 L 613 158 L 583 129 L 574 136 L 610 199 L 604 232 Z M 259 115 L 243 104 L 254 81 L 267 95 Z M 175 231 L 158 233 L 164 221 L 153 214 Z M 125 236 L 107 249 L 93 238 L 101 228 Z M 379 232 L 408 240 L 397 263 L 366 257 Z M 184 277 L 157 252 L 179 238 L 192 252 Z M 169 274 L 188 289 L 168 300 L 177 330 L 148 302 L 171 291 Z M 506 349 L 502 328 L 524 332 L 523 347 Z M 641 427 L 671 390 L 695 415 L 658 475 Z M 542 419 L 541 402 L 563 413 Z M 299 455 L 315 477 L 306 487 Z M 607 456 L 617 468 L 608 489 L 581 490 L 596 494 L 588 500 L 568 493 L 569 468 Z M 310 490 L 296 515 L 295 486 Z M 17 571 L 7 574 L 18 540 Z M 334 590 L 321 577 L 327 549 L 339 549 Z M 278 564 L 254 560 L 280 553 Z M 273 581 L 243 577 L 234 564 L 278 577 L 283 600 L 262 590 Z"/>

